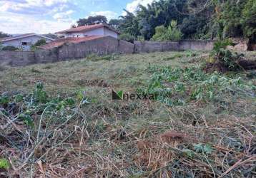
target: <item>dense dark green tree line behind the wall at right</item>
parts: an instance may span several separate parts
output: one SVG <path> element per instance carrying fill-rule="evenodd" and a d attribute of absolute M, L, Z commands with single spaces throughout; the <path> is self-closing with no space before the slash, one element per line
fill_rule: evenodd
<path fill-rule="evenodd" d="M 129 39 L 150 40 L 159 26 L 177 21 L 182 38 L 256 38 L 255 0 L 160 0 L 139 6 L 109 25 Z"/>

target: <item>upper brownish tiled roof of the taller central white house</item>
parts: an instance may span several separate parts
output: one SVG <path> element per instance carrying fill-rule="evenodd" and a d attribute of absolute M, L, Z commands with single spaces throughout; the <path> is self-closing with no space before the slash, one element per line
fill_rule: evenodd
<path fill-rule="evenodd" d="M 102 27 L 106 27 L 111 31 L 114 31 L 116 33 L 119 33 L 119 31 L 114 30 L 113 28 L 111 28 L 110 26 L 108 26 L 107 24 L 95 24 L 95 25 L 90 25 L 90 26 L 78 26 L 76 28 L 69 28 L 67 30 L 64 31 L 59 31 L 56 33 L 76 33 L 76 32 L 86 32 L 86 31 L 92 31 L 94 29 L 97 28 L 102 28 Z"/>

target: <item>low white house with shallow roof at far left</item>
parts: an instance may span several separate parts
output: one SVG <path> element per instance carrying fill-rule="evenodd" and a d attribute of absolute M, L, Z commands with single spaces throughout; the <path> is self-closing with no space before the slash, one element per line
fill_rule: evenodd
<path fill-rule="evenodd" d="M 8 38 L 2 38 L 0 43 L 2 46 L 14 46 L 16 48 L 21 48 L 24 51 L 29 51 L 31 45 L 34 45 L 37 41 L 45 39 L 46 43 L 54 41 L 52 38 L 46 36 L 37 35 L 35 33 L 26 33 L 19 36 L 11 36 Z"/>

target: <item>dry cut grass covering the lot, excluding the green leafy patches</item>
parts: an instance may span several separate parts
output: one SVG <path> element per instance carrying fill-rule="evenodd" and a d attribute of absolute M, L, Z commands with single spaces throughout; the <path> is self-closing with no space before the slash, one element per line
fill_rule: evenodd
<path fill-rule="evenodd" d="M 255 177 L 255 93 L 223 95 L 222 104 L 193 102 L 172 108 L 157 101 L 111 99 L 113 88 L 134 91 L 146 85 L 149 63 L 185 68 L 200 65 L 198 56 L 207 55 L 191 53 L 0 71 L 0 93 L 30 93 L 41 81 L 49 95 L 74 96 L 85 90 L 90 101 L 63 116 L 47 110 L 33 115 L 34 130 L 15 119 L 22 105 L 11 117 L 0 115 L 0 157 L 11 164 L 1 169 L 0 177 Z M 255 78 L 241 75 L 256 85 Z M 197 151 L 200 144 L 210 145 L 210 152 Z"/>

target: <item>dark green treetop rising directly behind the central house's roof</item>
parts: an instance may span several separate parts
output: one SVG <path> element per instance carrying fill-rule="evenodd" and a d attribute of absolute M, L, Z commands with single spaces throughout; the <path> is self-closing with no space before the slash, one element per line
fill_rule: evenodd
<path fill-rule="evenodd" d="M 77 26 L 89 26 L 95 24 L 107 23 L 107 17 L 105 16 L 89 16 L 87 19 L 79 19 Z"/>

